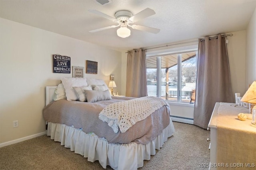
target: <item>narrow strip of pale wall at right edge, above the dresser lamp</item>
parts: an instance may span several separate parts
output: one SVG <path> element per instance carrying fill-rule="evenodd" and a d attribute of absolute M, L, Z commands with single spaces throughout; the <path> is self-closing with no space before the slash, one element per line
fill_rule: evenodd
<path fill-rule="evenodd" d="M 256 81 L 256 8 L 246 29 L 246 89 L 253 81 Z"/>

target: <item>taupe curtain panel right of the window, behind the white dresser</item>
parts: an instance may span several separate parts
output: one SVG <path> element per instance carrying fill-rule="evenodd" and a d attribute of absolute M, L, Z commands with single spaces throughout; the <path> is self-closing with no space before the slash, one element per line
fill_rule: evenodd
<path fill-rule="evenodd" d="M 216 102 L 233 103 L 226 39 L 209 39 L 198 44 L 198 68 L 194 125 L 207 128 Z"/>

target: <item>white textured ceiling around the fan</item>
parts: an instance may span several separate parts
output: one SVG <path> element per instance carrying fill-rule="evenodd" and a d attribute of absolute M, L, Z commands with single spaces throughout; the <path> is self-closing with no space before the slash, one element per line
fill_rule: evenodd
<path fill-rule="evenodd" d="M 0 0 L 0 17 L 116 50 L 154 47 L 206 35 L 246 29 L 256 0 Z M 90 33 L 116 23 L 88 12 L 98 10 L 114 18 L 118 10 L 132 14 L 153 9 L 156 14 L 136 22 L 161 29 L 158 34 L 131 29 L 121 38 L 116 28 Z"/>

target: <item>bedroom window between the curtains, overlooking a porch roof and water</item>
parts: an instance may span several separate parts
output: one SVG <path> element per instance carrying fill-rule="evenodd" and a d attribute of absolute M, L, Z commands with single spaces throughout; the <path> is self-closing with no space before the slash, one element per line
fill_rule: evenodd
<path fill-rule="evenodd" d="M 197 49 L 147 56 L 148 96 L 170 102 L 194 103 Z"/>

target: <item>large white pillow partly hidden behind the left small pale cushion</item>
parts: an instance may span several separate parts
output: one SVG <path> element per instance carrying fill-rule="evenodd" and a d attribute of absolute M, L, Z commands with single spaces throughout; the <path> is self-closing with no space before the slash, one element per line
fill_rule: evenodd
<path fill-rule="evenodd" d="M 61 78 L 62 84 L 65 88 L 66 97 L 68 101 L 78 100 L 78 96 L 76 95 L 76 91 L 72 87 L 81 87 L 81 86 L 88 86 L 86 82 L 86 78 Z"/>

